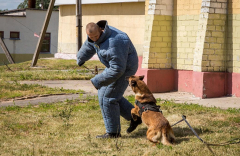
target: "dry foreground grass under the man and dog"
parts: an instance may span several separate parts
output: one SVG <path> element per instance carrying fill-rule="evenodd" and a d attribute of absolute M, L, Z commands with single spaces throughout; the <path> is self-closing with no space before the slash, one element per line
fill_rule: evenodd
<path fill-rule="evenodd" d="M 128 100 L 133 103 L 133 96 Z M 170 124 L 184 114 L 206 142 L 240 138 L 240 109 L 160 102 Z M 143 124 L 127 134 L 128 126 L 129 122 L 121 118 L 121 138 L 95 139 L 96 135 L 105 132 L 105 128 L 97 97 L 92 96 L 38 106 L 0 108 L 0 155 L 211 155 L 184 122 L 173 127 L 175 146 L 149 142 Z M 240 153 L 239 144 L 211 148 L 216 155 Z"/>

